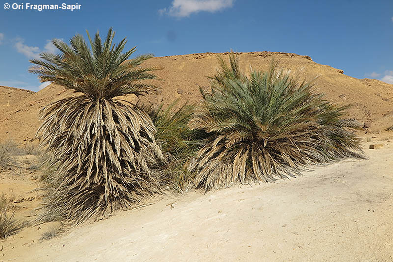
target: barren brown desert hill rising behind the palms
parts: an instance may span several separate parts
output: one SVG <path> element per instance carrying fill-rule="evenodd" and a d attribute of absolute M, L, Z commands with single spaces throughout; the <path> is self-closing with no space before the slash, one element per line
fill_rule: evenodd
<path fill-rule="evenodd" d="M 228 53 L 224 53 L 227 56 Z M 279 61 L 279 66 L 292 71 L 303 68 L 301 76 L 316 79 L 318 92 L 326 94 L 326 99 L 339 104 L 352 104 L 346 113 L 347 118 L 367 122 L 370 130 L 382 130 L 393 124 L 393 85 L 375 79 L 356 79 L 349 77 L 340 69 L 321 65 L 309 56 L 281 52 L 238 53 L 242 68 L 248 72 L 250 65 L 255 69 L 267 69 L 272 59 Z M 156 74 L 163 80 L 156 82 L 160 90 L 142 99 L 151 104 L 168 105 L 175 99 L 182 103 L 197 102 L 200 98 L 199 87 L 208 88 L 209 80 L 217 69 L 215 53 L 187 54 L 155 57 L 146 61 L 147 66 L 159 66 Z M 0 98 L 4 96 L 0 89 Z M 40 124 L 39 110 L 57 99 L 72 94 L 56 85 L 49 85 L 37 93 L 28 93 L 26 97 L 12 96 L 12 102 L 6 106 L 0 100 L 0 140 L 32 140 Z M 6 95 L 9 95 L 8 93 Z M 10 98 L 11 99 L 11 98 Z M 126 99 L 135 101 L 134 96 Z"/>

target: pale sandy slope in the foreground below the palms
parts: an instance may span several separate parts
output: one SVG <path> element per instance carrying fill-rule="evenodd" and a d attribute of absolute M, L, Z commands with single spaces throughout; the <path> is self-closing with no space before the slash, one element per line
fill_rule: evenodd
<path fill-rule="evenodd" d="M 365 150 L 369 160 L 298 179 L 166 197 L 0 261 L 393 261 L 393 142 L 384 143 Z"/>

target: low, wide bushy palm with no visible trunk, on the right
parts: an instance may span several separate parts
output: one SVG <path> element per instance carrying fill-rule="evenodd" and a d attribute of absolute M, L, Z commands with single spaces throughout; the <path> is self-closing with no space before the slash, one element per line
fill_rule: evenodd
<path fill-rule="evenodd" d="M 363 157 L 358 139 L 346 131 L 333 105 L 313 91 L 313 84 L 276 69 L 246 76 L 237 56 L 211 77 L 211 91 L 201 90 L 190 125 L 208 138 L 189 169 L 205 190 L 233 183 L 294 177 L 307 165 Z"/>

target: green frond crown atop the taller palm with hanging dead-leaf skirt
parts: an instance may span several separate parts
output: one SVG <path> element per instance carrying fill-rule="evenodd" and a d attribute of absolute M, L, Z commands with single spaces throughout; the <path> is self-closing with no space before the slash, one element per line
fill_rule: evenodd
<path fill-rule="evenodd" d="M 42 53 L 42 60 L 31 60 L 36 66 L 29 71 L 38 74 L 43 82 L 53 82 L 91 98 L 111 99 L 127 94 L 140 95 L 154 88 L 141 81 L 156 79 L 150 73 L 156 68 L 138 67 L 153 55 L 140 55 L 128 60 L 136 47 L 122 53 L 127 41 L 124 38 L 117 45 L 112 45 L 115 35 L 112 28 L 109 29 L 105 42 L 102 42 L 98 32 L 94 41 L 88 32 L 87 35 L 91 49 L 81 35 L 71 38 L 70 45 L 59 39 L 52 40 L 61 53 Z"/>

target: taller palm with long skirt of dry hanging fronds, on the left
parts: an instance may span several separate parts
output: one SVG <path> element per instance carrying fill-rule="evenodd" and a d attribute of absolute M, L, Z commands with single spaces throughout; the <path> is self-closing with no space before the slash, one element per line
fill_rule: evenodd
<path fill-rule="evenodd" d="M 60 54 L 42 53 L 29 71 L 75 92 L 53 102 L 40 114 L 41 145 L 52 151 L 53 174 L 46 179 L 44 208 L 49 218 L 75 219 L 127 208 L 159 191 L 149 165 L 163 159 L 156 144 L 156 129 L 137 105 L 118 98 L 143 95 L 155 89 L 144 81 L 157 79 L 141 63 L 153 55 L 129 59 L 136 47 L 123 52 L 126 39 L 112 45 L 87 32 L 91 49 L 81 35 L 70 45 L 55 39 Z"/>

